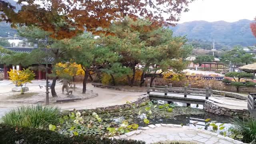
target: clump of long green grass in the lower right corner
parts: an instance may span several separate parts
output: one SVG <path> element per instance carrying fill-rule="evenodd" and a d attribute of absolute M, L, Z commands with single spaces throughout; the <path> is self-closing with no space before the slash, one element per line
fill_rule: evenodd
<path fill-rule="evenodd" d="M 233 118 L 233 131 L 243 136 L 242 141 L 246 143 L 256 143 L 256 118 Z"/>

